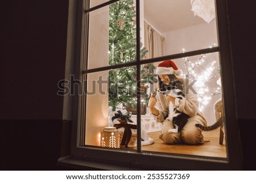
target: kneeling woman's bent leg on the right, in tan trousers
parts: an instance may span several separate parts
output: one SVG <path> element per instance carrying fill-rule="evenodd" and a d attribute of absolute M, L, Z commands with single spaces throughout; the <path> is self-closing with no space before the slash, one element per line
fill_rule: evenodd
<path fill-rule="evenodd" d="M 201 124 L 199 118 L 191 118 L 181 129 L 181 140 L 188 145 L 197 145 L 204 143 L 204 136 L 202 131 L 195 126 L 195 124 Z"/>

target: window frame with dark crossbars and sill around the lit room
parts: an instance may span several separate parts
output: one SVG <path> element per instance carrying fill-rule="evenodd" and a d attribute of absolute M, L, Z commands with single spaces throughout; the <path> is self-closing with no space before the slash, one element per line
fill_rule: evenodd
<path fill-rule="evenodd" d="M 103 5 L 109 5 L 116 2 L 109 1 Z M 89 0 L 74 0 L 69 2 L 69 31 L 68 37 L 71 37 L 68 41 L 67 49 L 67 62 L 72 63 L 75 69 L 75 79 L 84 80 L 84 73 L 93 73 L 94 71 L 106 70 L 106 67 L 86 70 L 84 60 L 86 60 L 86 50 L 88 37 L 86 31 L 88 31 L 88 24 L 85 24 L 88 19 L 88 14 L 85 14 L 86 7 L 89 7 Z M 99 5 L 99 6 L 103 6 Z M 137 12 L 139 12 L 139 1 L 137 1 Z M 97 9 L 94 7 L 93 9 Z M 144 63 L 152 63 L 156 61 L 162 61 L 167 59 L 175 59 L 187 56 L 194 56 L 203 53 L 219 52 L 220 53 L 220 65 L 221 65 L 221 77 L 222 88 L 224 91 L 223 97 L 225 98 L 225 117 L 226 117 L 226 143 L 228 145 L 227 154 L 228 158 L 218 159 L 203 156 L 189 156 L 189 155 L 175 155 L 175 154 L 160 154 L 147 151 L 141 151 L 140 139 L 137 139 L 138 149 L 137 151 L 122 150 L 122 149 L 105 149 L 102 147 L 84 146 L 85 138 L 85 123 L 84 118 L 85 100 L 84 96 L 73 96 L 73 108 L 72 110 L 72 136 L 71 136 L 71 155 L 66 158 L 61 158 L 59 164 L 62 166 L 76 166 L 79 168 L 95 167 L 106 170 L 120 170 L 126 168 L 137 169 L 150 169 L 150 170 L 241 170 L 242 168 L 242 148 L 240 143 L 240 135 L 238 128 L 238 119 L 236 111 L 235 101 L 235 88 L 233 79 L 233 64 L 230 50 L 229 40 L 229 27 L 228 27 L 228 14 L 226 10 L 226 0 L 216 0 L 217 11 L 217 31 L 218 31 L 218 45 L 212 49 L 201 49 L 187 53 L 173 54 L 170 56 L 152 58 L 146 60 Z M 221 17 L 221 18 L 218 18 Z M 137 13 L 137 20 L 139 20 L 139 13 Z M 137 28 L 139 29 L 139 21 L 137 21 Z M 137 31 L 137 37 L 139 37 L 139 31 Z M 139 42 L 139 39 L 137 39 Z M 139 46 L 139 44 L 137 44 Z M 137 48 L 139 50 L 139 47 Z M 139 54 L 138 54 L 139 55 Z M 137 56 L 137 62 L 118 66 L 137 66 L 137 78 L 140 77 L 141 61 Z M 118 67 L 118 66 L 114 66 Z M 109 67 L 110 68 L 110 67 Z M 108 68 L 108 69 L 109 69 Z M 82 70 L 85 70 L 82 73 Z M 139 79 L 138 79 L 139 80 Z M 140 103 L 140 96 L 137 96 L 138 105 Z M 137 110 L 137 124 L 138 124 L 138 136 L 141 135 L 141 117 L 140 109 Z M 118 167 L 118 168 L 117 168 Z"/>

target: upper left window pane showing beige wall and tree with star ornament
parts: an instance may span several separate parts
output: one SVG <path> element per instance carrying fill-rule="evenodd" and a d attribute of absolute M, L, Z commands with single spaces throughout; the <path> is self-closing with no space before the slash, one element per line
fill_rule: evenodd
<path fill-rule="evenodd" d="M 135 21 L 132 0 L 90 12 L 88 69 L 135 61 Z"/>

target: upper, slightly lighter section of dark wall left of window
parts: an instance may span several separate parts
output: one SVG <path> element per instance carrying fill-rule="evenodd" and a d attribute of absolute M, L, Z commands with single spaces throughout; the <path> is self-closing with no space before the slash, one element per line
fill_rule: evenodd
<path fill-rule="evenodd" d="M 68 0 L 5 2 L 1 119 L 62 118 Z"/>

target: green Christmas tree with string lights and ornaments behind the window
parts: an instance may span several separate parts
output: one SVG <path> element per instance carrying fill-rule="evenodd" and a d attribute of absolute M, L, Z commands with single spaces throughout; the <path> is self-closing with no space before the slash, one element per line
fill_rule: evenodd
<path fill-rule="evenodd" d="M 121 0 L 109 7 L 109 65 L 136 61 L 136 11 L 133 0 Z M 141 44 L 141 58 L 147 50 Z M 152 78 L 154 66 L 142 66 L 142 100 L 148 100 L 146 83 Z M 122 67 L 109 71 L 109 106 L 136 105 L 136 67 Z"/>

